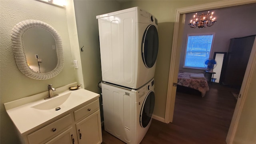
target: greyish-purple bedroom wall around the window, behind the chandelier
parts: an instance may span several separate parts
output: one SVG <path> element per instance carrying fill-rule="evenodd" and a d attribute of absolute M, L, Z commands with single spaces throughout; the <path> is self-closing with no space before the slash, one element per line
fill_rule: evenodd
<path fill-rule="evenodd" d="M 203 11 L 204 13 L 207 12 Z M 180 70 L 186 72 L 203 72 L 204 70 L 194 70 L 182 68 L 184 64 L 184 54 L 186 52 L 187 34 L 202 34 L 215 32 L 214 43 L 210 58 L 213 58 L 214 52 L 228 52 L 231 38 L 239 38 L 256 34 L 256 28 L 252 24 L 256 23 L 256 4 L 235 6 L 230 8 L 221 8 L 210 10 L 214 12 L 216 23 L 206 28 L 190 28 L 188 26 L 195 13 L 186 14 L 185 26 L 183 31 L 183 43 L 180 55 Z M 202 12 L 198 12 L 201 14 Z"/>

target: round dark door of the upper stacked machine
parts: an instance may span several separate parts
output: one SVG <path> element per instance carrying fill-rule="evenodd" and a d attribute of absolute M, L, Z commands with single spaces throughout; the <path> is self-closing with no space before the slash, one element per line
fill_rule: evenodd
<path fill-rule="evenodd" d="M 147 68 L 152 68 L 158 53 L 158 32 L 156 26 L 149 25 L 143 35 L 141 45 L 142 59 Z"/>

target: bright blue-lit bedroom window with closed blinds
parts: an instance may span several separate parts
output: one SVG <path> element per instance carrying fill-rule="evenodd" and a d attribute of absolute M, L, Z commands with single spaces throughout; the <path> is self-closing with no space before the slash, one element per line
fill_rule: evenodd
<path fill-rule="evenodd" d="M 188 34 L 184 68 L 206 69 L 204 61 L 209 58 L 214 34 Z"/>

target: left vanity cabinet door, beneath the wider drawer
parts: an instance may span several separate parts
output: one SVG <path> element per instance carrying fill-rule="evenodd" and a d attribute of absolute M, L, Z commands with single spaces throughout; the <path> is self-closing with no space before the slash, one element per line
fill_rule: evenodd
<path fill-rule="evenodd" d="M 77 144 L 76 137 L 73 135 L 73 128 L 68 128 L 52 140 L 45 144 Z"/>

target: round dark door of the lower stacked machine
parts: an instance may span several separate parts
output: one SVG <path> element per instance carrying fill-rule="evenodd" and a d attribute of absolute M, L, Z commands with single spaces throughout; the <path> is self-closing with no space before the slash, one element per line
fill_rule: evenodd
<path fill-rule="evenodd" d="M 146 96 L 140 110 L 140 126 L 146 128 L 151 120 L 155 105 L 155 93 L 150 91 Z"/>

